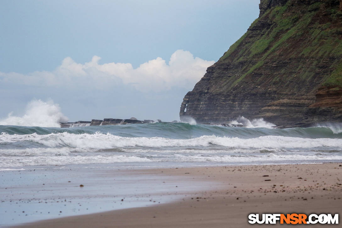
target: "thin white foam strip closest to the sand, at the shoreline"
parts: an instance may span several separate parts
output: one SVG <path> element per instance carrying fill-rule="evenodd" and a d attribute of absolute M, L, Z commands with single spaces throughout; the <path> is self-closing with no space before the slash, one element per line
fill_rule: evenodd
<path fill-rule="evenodd" d="M 127 156 L 127 155 L 93 155 L 93 156 L 36 156 L 32 157 L 4 157 L 0 167 L 70 165 L 70 164 L 109 164 L 109 163 L 146 163 L 146 162 L 225 162 L 225 163 L 254 163 L 259 162 L 299 162 L 299 161 L 342 161 L 342 155 L 325 154 L 275 154 L 259 155 L 184 155 L 160 157 L 157 155 Z M 2 168 L 2 170 L 8 170 Z"/>

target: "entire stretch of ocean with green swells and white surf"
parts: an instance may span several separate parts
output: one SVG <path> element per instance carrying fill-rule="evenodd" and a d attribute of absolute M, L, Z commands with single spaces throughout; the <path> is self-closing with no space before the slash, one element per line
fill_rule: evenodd
<path fill-rule="evenodd" d="M 0 125 L 0 170 L 29 167 L 196 166 L 342 161 L 342 127 L 273 129 L 188 123 Z"/>

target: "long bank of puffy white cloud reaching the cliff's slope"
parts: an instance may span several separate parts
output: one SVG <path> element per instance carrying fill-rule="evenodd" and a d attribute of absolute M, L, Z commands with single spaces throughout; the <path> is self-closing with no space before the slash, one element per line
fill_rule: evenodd
<path fill-rule="evenodd" d="M 0 81 L 24 85 L 73 87 L 90 86 L 110 89 L 119 83 L 131 84 L 140 91 L 163 91 L 172 87 L 192 88 L 214 61 L 194 58 L 189 51 L 177 50 L 167 64 L 158 57 L 133 68 L 130 63 L 98 64 L 101 58 L 93 56 L 90 62 L 76 63 L 70 57 L 54 71 L 36 71 L 29 74 L 0 72 Z"/>

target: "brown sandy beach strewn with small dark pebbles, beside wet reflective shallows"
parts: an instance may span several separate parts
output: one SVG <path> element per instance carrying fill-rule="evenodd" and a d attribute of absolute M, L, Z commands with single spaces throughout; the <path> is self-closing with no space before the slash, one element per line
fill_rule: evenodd
<path fill-rule="evenodd" d="M 127 170 L 163 180 L 174 188 L 206 186 L 181 200 L 89 215 L 42 220 L 16 227 L 246 227 L 251 213 L 341 214 L 340 163 L 172 167 Z M 108 175 L 116 171 L 107 172 Z M 158 189 L 158 185 L 150 186 Z M 174 193 L 166 193 L 172 197 Z M 281 226 L 277 224 L 276 226 Z M 307 225 L 306 227 L 324 225 Z M 326 225 L 325 225 L 326 226 Z M 333 225 L 336 226 L 336 225 Z"/>

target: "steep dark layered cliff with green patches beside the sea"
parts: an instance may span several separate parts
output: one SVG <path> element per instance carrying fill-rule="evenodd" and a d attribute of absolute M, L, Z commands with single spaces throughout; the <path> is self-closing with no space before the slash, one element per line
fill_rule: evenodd
<path fill-rule="evenodd" d="M 342 122 L 342 0 L 261 0 L 260 15 L 183 99 L 180 117 Z"/>

